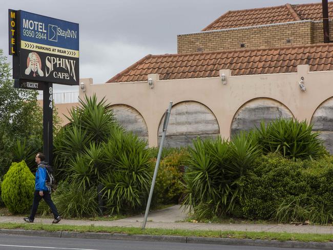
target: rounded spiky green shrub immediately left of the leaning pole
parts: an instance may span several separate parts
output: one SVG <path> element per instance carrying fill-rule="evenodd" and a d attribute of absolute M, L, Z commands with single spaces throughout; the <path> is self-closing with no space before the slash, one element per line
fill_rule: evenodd
<path fill-rule="evenodd" d="M 103 149 L 109 171 L 101 177 L 110 213 L 137 212 L 150 190 L 151 154 L 147 142 L 132 133 L 116 131 Z"/>

